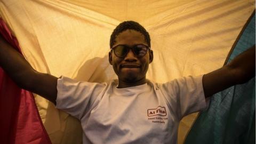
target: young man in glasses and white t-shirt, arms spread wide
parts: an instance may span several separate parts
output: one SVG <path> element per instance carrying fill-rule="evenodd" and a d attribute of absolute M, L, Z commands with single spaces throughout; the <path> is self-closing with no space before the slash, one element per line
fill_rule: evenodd
<path fill-rule="evenodd" d="M 3 38 L 0 66 L 23 89 L 42 95 L 81 121 L 83 143 L 177 143 L 179 121 L 206 107 L 205 98 L 255 76 L 255 46 L 209 74 L 164 84 L 146 79 L 150 37 L 134 21 L 116 27 L 109 62 L 118 80 L 76 82 L 35 71 Z"/>

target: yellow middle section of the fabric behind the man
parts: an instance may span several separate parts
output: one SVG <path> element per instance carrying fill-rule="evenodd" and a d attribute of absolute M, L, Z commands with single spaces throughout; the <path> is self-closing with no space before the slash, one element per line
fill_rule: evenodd
<path fill-rule="evenodd" d="M 108 63 L 110 35 L 120 22 L 138 21 L 149 31 L 154 51 L 147 78 L 162 83 L 220 68 L 254 3 L 1 0 L 0 12 L 36 70 L 90 82 L 116 78 Z M 77 119 L 44 98 L 35 95 L 35 99 L 52 143 L 82 142 Z M 179 143 L 196 115 L 182 119 Z"/>

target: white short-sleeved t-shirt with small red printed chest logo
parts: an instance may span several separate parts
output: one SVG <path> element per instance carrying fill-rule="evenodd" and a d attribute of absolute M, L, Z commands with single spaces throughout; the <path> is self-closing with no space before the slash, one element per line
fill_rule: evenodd
<path fill-rule="evenodd" d="M 83 143 L 177 143 L 181 118 L 206 108 L 202 76 L 117 89 L 58 79 L 57 108 L 81 121 Z"/>

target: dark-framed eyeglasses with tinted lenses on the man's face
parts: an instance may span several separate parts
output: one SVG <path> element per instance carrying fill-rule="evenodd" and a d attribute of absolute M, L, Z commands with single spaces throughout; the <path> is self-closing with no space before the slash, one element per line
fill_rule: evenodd
<path fill-rule="evenodd" d="M 134 55 L 136 55 L 136 57 L 140 58 L 146 55 L 148 50 L 150 50 L 150 47 L 143 44 L 134 45 L 132 47 L 121 44 L 121 45 L 111 47 L 111 51 L 113 50 L 116 57 L 119 57 L 119 58 L 124 58 L 126 54 L 130 51 L 130 49 L 132 49 L 132 52 Z"/>

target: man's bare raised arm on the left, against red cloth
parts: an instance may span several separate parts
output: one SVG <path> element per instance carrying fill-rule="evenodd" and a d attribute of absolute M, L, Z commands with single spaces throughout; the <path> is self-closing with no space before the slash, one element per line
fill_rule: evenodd
<path fill-rule="evenodd" d="M 47 100 L 56 103 L 58 78 L 34 70 L 2 36 L 0 36 L 0 67 L 22 89 L 42 95 Z"/>

